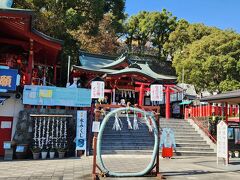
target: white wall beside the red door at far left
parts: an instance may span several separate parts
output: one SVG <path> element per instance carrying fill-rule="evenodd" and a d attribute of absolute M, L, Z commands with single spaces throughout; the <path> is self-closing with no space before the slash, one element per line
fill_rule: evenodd
<path fill-rule="evenodd" d="M 13 139 L 13 136 L 16 131 L 16 124 L 19 118 L 19 112 L 24 109 L 24 105 L 22 104 L 21 99 L 15 98 L 15 94 L 4 94 L 4 95 L 8 95 L 11 97 L 7 99 L 3 105 L 0 105 L 0 116 L 13 117 L 12 136 L 11 136 L 11 139 Z"/>

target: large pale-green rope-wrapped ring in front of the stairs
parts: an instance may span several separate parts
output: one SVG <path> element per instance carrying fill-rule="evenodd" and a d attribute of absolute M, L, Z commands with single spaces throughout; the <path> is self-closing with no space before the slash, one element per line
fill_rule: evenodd
<path fill-rule="evenodd" d="M 102 135 L 103 135 L 103 131 L 105 129 L 105 126 L 107 124 L 107 122 L 109 121 L 109 118 L 111 117 L 111 115 L 115 114 L 115 113 L 118 113 L 118 112 L 121 112 L 121 111 L 126 111 L 127 110 L 132 110 L 132 111 L 135 111 L 135 112 L 140 112 L 142 114 L 146 114 L 148 116 L 151 116 L 153 121 L 153 132 L 154 132 L 154 148 L 153 148 L 153 153 L 152 153 L 152 157 L 151 157 L 151 161 L 150 163 L 148 164 L 148 166 L 140 171 L 140 172 L 134 172 L 134 173 L 118 173 L 118 172 L 112 172 L 112 171 L 109 171 L 104 163 L 103 163 L 103 160 L 102 160 Z M 115 176 L 115 177 L 140 177 L 140 176 L 144 176 L 146 175 L 148 172 L 151 171 L 151 169 L 153 168 L 154 166 L 154 162 L 156 160 L 156 156 L 157 156 L 157 151 L 158 151 L 158 146 L 159 146 L 159 142 L 158 142 L 158 130 L 157 130 L 157 125 L 156 125 L 156 122 L 155 122 L 155 117 L 152 113 L 148 113 L 146 111 L 143 111 L 141 109 L 138 109 L 138 108 L 133 108 L 133 107 L 124 107 L 124 108 L 118 108 L 118 109 L 115 109 L 113 111 L 111 111 L 110 113 L 108 113 L 105 118 L 103 119 L 102 121 L 102 124 L 100 126 L 100 130 L 99 130 L 99 134 L 98 134 L 98 141 L 97 141 L 97 159 L 98 159 L 98 162 L 100 163 L 100 168 L 101 168 L 101 171 L 104 172 L 105 174 L 109 175 L 109 176 Z"/>

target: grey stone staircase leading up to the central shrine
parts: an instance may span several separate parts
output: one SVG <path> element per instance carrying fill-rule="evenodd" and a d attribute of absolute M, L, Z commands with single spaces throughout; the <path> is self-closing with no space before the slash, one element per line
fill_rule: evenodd
<path fill-rule="evenodd" d="M 138 123 L 139 130 L 127 127 L 126 117 L 121 117 L 121 131 L 112 130 L 114 118 L 107 123 L 102 138 L 103 154 L 151 154 L 154 136 L 148 131 L 146 124 Z M 133 117 L 130 117 L 132 122 Z M 139 121 L 138 121 L 139 122 Z M 195 131 L 188 121 L 182 119 L 160 120 L 161 128 L 172 128 L 176 140 L 175 155 L 183 156 L 214 156 L 214 150 Z"/>

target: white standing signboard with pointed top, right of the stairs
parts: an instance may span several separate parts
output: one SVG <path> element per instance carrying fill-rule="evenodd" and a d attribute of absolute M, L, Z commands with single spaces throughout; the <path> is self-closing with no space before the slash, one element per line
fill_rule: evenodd
<path fill-rule="evenodd" d="M 218 158 L 224 158 L 228 164 L 228 126 L 224 121 L 217 125 L 217 163 Z"/>

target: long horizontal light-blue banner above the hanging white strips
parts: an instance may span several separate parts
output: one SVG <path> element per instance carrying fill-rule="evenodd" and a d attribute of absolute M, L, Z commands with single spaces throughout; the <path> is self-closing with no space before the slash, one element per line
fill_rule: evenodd
<path fill-rule="evenodd" d="M 23 104 L 91 107 L 91 91 L 85 88 L 25 85 Z"/>

